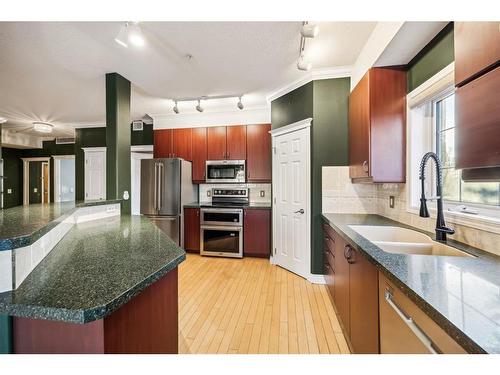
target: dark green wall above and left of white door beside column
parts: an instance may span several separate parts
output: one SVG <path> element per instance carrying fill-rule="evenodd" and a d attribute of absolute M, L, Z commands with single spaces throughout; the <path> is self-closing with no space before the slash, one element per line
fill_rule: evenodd
<path fill-rule="evenodd" d="M 85 154 L 82 147 L 106 147 L 106 128 L 75 130 L 75 199 L 85 199 Z"/>

